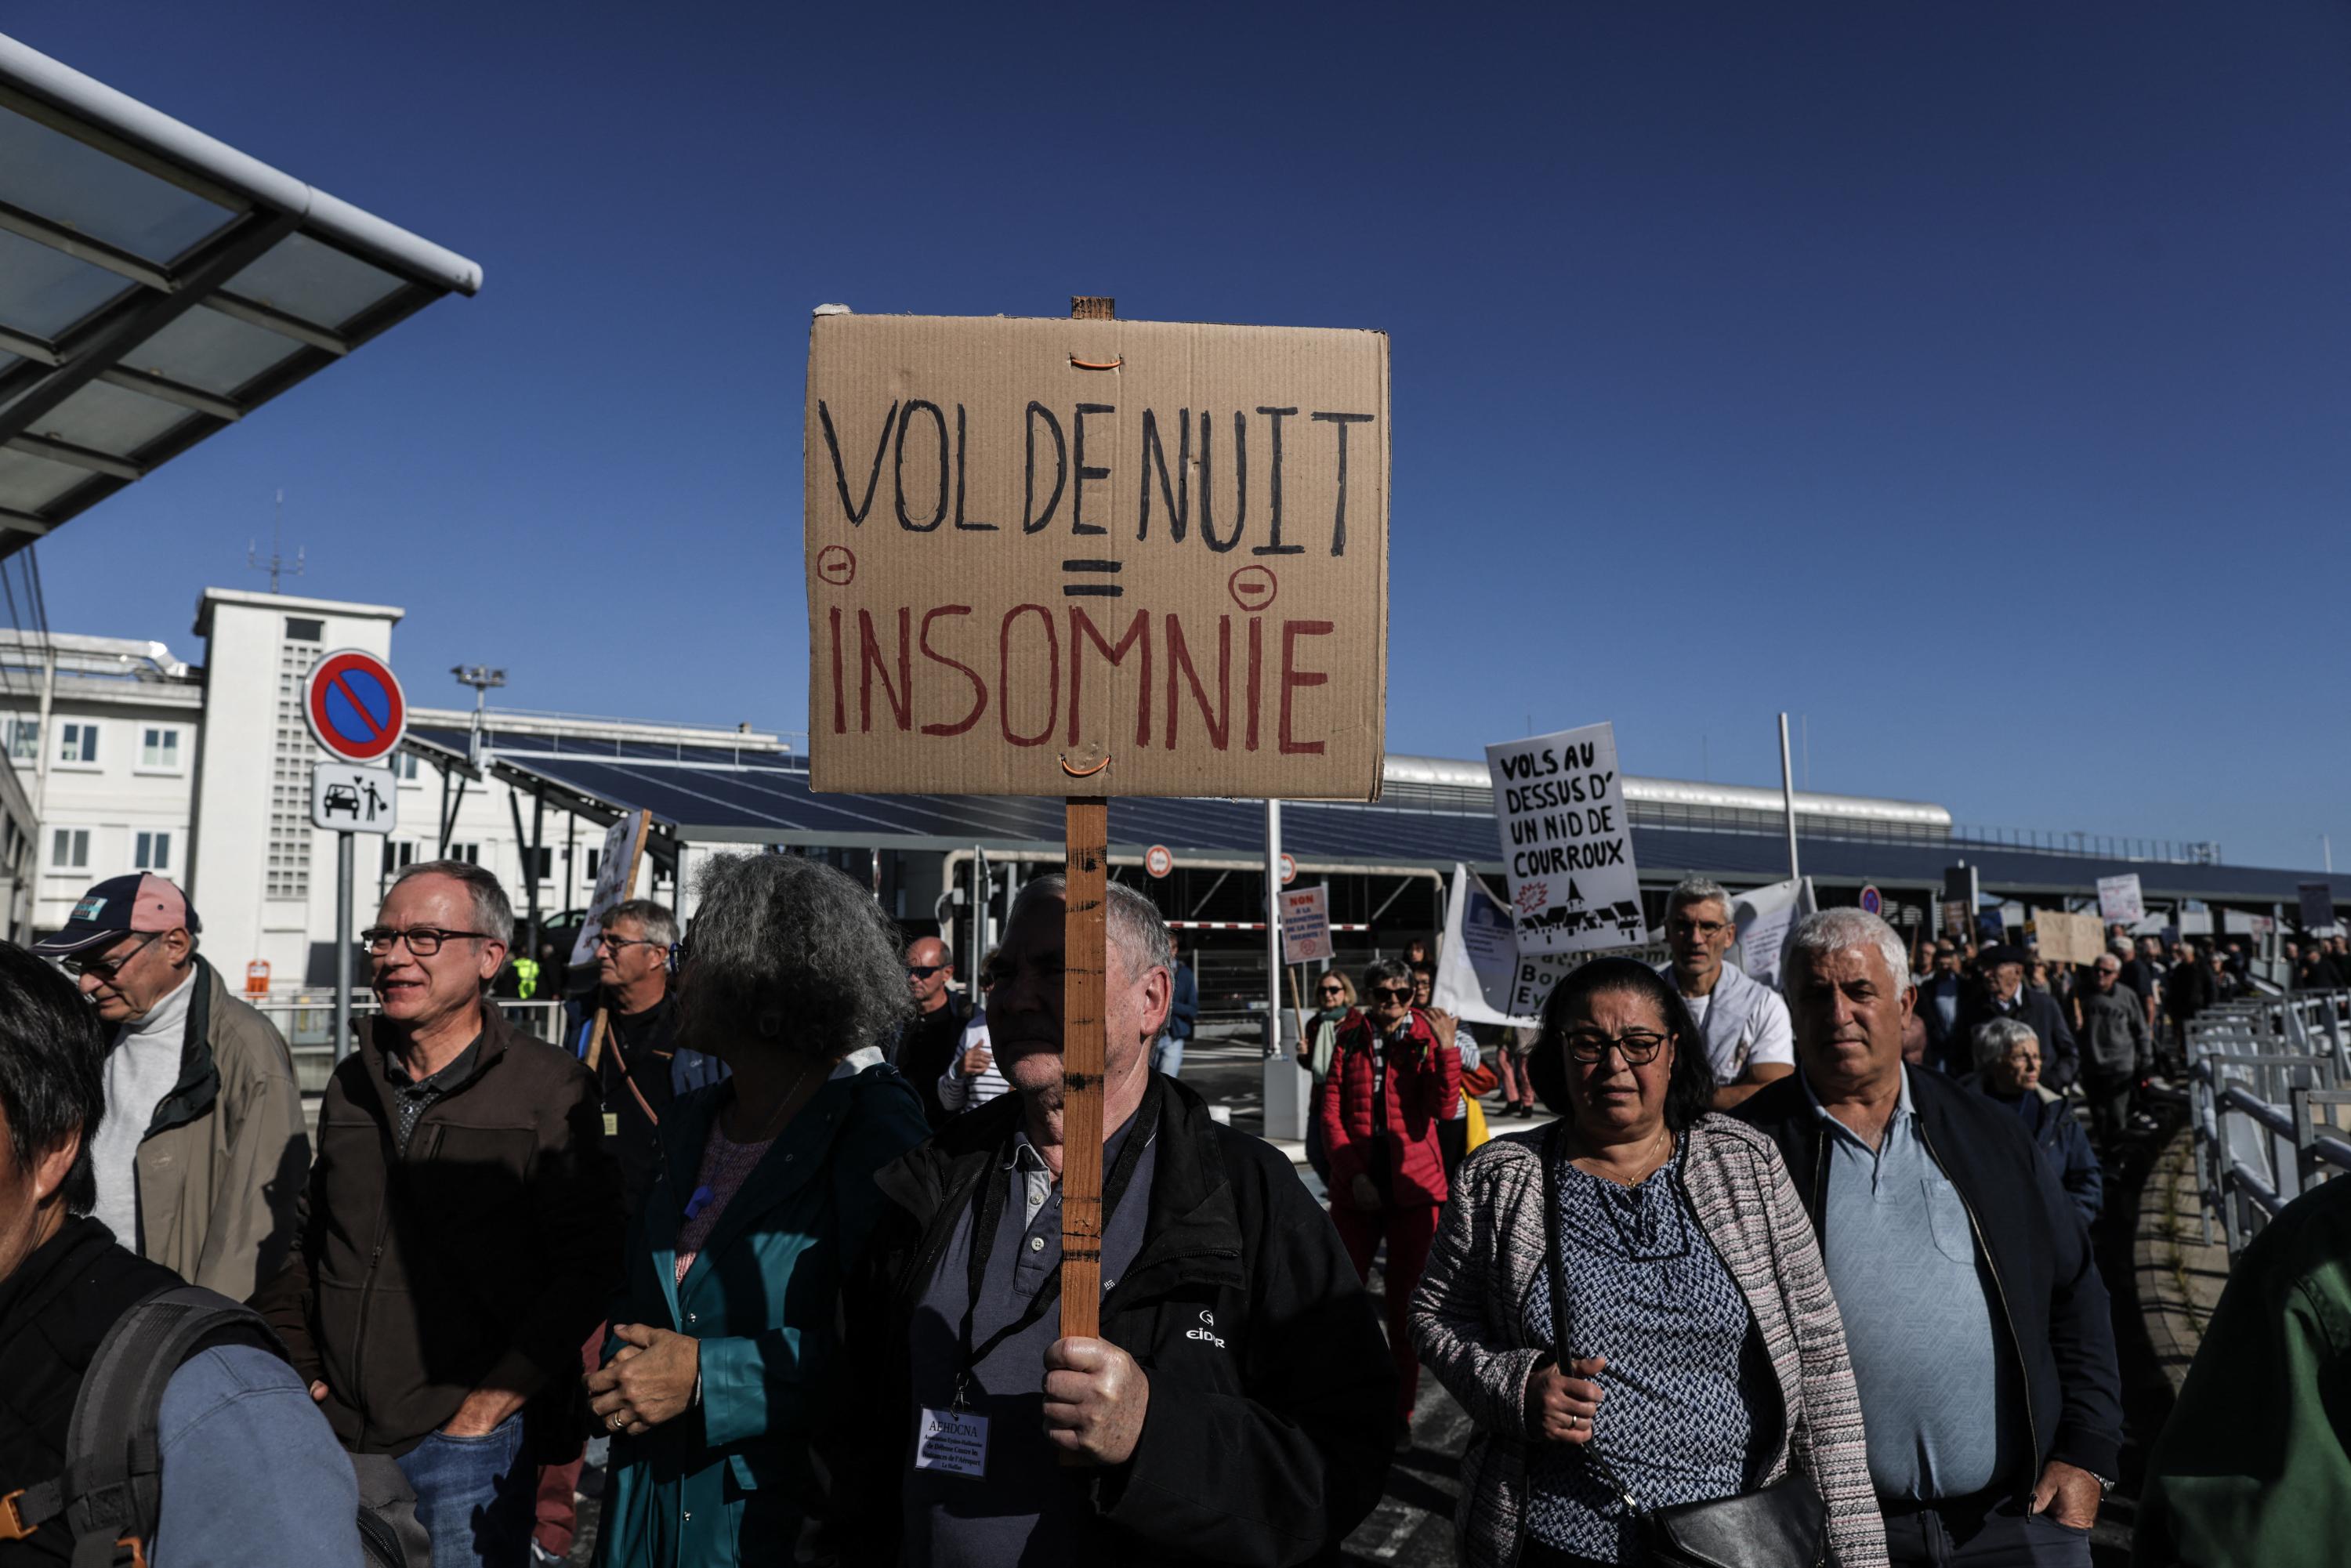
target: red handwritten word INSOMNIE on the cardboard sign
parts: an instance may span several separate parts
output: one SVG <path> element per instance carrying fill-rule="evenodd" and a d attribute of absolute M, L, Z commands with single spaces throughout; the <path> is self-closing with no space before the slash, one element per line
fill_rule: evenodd
<path fill-rule="evenodd" d="M 1100 625 L 1081 604 L 1063 611 L 1056 616 L 1044 604 L 1013 604 L 1002 616 L 980 616 L 971 604 L 936 604 L 919 614 L 912 607 L 879 614 L 832 607 L 825 649 L 832 733 L 962 736 L 994 710 L 1011 745 L 1046 745 L 1063 722 L 1065 743 L 1077 745 L 1086 724 L 1089 665 L 1107 679 L 1110 670 L 1126 675 L 1133 658 L 1136 748 L 1154 743 L 1157 710 L 1157 743 L 1171 752 L 1180 736 L 1183 745 L 1213 752 L 1255 752 L 1260 745 L 1286 757 L 1324 752 L 1321 738 L 1300 738 L 1321 736 L 1328 724 L 1310 722 L 1298 693 L 1331 679 L 1328 670 L 1307 668 L 1307 644 L 1335 632 L 1331 621 L 1220 614 L 1213 625 L 1206 616 L 1187 625 L 1173 611 L 1138 609 L 1124 625 L 1117 616 Z M 1154 658 L 1164 670 L 1164 703 L 1154 703 Z M 1185 733 L 1187 724 L 1199 729 L 1197 741 Z"/>

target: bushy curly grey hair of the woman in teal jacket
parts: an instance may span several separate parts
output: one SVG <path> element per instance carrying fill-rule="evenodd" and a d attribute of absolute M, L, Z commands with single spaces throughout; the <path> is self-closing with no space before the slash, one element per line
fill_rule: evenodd
<path fill-rule="evenodd" d="M 698 1039 L 792 1039 L 839 1060 L 915 1011 L 898 929 L 863 886 L 806 856 L 719 856 L 694 882 L 682 987 Z"/>

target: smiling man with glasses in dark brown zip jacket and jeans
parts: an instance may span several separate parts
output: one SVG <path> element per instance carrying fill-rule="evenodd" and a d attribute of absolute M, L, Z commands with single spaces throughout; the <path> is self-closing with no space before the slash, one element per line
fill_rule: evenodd
<path fill-rule="evenodd" d="M 531 1427 L 576 1434 L 581 1340 L 621 1284 L 597 1084 L 484 1004 L 513 936 L 480 865 L 393 882 L 362 933 L 381 1009 L 327 1081 L 294 1260 L 254 1298 L 343 1448 L 395 1455 L 435 1568 L 529 1561 Z"/>

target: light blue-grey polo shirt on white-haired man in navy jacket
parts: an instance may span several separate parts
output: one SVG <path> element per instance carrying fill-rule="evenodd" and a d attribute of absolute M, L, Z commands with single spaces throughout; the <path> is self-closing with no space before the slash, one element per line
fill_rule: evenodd
<path fill-rule="evenodd" d="M 1846 1319 L 1881 1497 L 1965 1497 L 2017 1465 L 2017 1363 L 1958 1190 L 1902 1098 L 1871 1150 L 1803 1084 L 1829 1131 L 1822 1251 Z"/>

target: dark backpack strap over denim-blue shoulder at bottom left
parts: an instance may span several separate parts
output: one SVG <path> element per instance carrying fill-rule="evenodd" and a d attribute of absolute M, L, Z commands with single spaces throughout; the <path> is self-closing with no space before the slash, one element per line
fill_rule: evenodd
<path fill-rule="evenodd" d="M 49 1483 L 73 1535 L 73 1568 L 146 1561 L 162 1514 L 162 1392 L 193 1354 L 221 1342 L 284 1354 L 261 1314 L 197 1286 L 158 1291 L 106 1331 L 73 1399 L 66 1474 Z M 26 1500 L 35 1490 L 47 1488 L 26 1488 Z"/>

